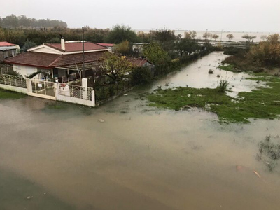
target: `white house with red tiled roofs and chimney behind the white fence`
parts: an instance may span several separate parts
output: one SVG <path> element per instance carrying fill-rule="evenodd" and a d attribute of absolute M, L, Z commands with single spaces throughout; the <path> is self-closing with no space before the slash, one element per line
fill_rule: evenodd
<path fill-rule="evenodd" d="M 61 43 L 43 43 L 20 55 L 5 59 L 4 62 L 12 64 L 13 70 L 22 76 L 41 71 L 61 81 L 69 75 L 80 78 L 82 73 L 85 76 L 85 71 L 92 72 L 103 60 L 105 52 L 109 52 L 109 48 L 97 43 L 84 42 L 83 56 L 82 41 L 65 42 L 62 38 Z"/>

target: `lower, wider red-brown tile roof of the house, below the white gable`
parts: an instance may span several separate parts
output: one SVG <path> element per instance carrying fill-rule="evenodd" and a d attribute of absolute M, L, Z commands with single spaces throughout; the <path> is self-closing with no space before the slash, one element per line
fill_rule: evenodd
<path fill-rule="evenodd" d="M 85 62 L 97 62 L 102 60 L 106 51 L 85 53 Z M 83 62 L 83 53 L 70 55 L 57 55 L 41 52 L 25 52 L 15 57 L 4 59 L 8 64 L 20 64 L 26 66 L 37 66 L 43 68 L 53 68 L 69 64 Z"/>

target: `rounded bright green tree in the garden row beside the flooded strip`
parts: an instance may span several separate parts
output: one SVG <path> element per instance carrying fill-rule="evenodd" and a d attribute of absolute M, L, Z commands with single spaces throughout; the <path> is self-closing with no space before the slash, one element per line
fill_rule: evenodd
<path fill-rule="evenodd" d="M 155 65 L 164 64 L 168 59 L 167 52 L 162 49 L 159 43 L 155 42 L 144 45 L 143 54 Z"/>

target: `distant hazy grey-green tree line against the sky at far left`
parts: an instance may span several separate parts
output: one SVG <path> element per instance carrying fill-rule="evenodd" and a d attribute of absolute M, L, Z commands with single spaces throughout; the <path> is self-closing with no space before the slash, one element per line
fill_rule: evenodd
<path fill-rule="evenodd" d="M 61 20 L 27 18 L 25 15 L 8 15 L 5 18 L 0 17 L 0 27 L 5 29 L 17 28 L 50 28 L 50 27 L 67 27 L 66 22 Z"/>

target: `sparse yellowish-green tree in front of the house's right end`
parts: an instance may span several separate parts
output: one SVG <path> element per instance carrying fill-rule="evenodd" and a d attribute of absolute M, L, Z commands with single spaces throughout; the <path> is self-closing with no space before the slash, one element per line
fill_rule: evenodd
<path fill-rule="evenodd" d="M 106 52 L 102 63 L 102 72 L 109 76 L 117 85 L 118 81 L 131 73 L 132 63 L 127 61 L 125 56 L 118 57 L 110 52 Z"/>

